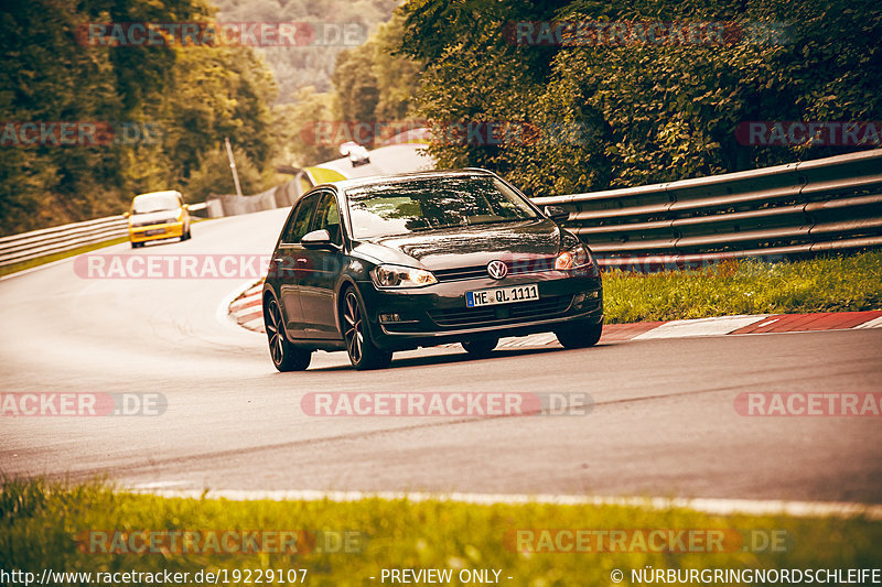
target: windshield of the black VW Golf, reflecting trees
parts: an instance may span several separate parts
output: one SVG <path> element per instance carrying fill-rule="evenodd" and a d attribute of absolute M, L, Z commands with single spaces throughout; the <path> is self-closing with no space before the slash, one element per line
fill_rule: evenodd
<path fill-rule="evenodd" d="M 423 177 L 346 192 L 356 239 L 536 218 L 517 193 L 490 175 Z"/>

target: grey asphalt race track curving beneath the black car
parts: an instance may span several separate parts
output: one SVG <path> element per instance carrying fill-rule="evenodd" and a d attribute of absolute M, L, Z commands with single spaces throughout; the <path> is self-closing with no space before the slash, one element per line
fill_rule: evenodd
<path fill-rule="evenodd" d="M 122 256 L 269 254 L 284 210 L 201 222 Z M 0 470 L 181 489 L 596 493 L 882 502 L 878 417 L 745 417 L 742 391 L 882 391 L 882 330 L 397 355 L 278 373 L 218 318 L 241 279 L 0 281 L 0 392 L 160 392 L 160 416 L 0 417 Z M 314 391 L 589 392 L 590 415 L 316 417 Z"/>

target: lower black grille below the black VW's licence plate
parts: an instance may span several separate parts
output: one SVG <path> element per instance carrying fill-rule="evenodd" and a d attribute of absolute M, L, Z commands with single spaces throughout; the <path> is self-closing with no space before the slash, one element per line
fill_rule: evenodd
<path fill-rule="evenodd" d="M 520 304 L 432 309 L 429 317 L 441 328 L 476 328 L 553 318 L 567 312 L 571 302 L 572 295 L 557 295 Z"/>

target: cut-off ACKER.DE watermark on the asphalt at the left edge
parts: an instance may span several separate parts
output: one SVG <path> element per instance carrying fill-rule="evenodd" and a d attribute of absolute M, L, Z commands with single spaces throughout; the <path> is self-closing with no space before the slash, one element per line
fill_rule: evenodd
<path fill-rule="evenodd" d="M 155 392 L 0 393 L 0 416 L 160 416 L 169 401 Z"/>

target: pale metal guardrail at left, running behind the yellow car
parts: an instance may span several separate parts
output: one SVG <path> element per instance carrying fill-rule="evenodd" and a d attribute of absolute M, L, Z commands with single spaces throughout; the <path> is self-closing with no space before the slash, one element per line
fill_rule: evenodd
<path fill-rule="evenodd" d="M 204 208 L 205 204 L 190 205 L 191 211 Z M 2 237 L 0 238 L 0 267 L 96 244 L 126 237 L 128 233 L 129 222 L 120 215 Z"/>

